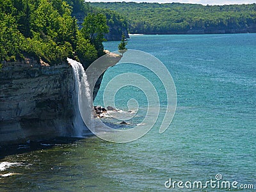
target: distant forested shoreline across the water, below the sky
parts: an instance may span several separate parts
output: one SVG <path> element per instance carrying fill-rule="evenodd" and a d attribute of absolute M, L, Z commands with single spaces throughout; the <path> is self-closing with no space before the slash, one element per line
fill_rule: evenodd
<path fill-rule="evenodd" d="M 241 29 L 256 23 L 256 4 L 90 3 L 124 15 L 130 33 L 175 34 L 189 29 Z"/>

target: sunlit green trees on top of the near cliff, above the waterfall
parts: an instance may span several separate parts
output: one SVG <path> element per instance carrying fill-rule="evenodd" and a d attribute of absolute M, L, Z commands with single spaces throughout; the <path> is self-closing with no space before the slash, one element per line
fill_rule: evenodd
<path fill-rule="evenodd" d="M 0 63 L 34 57 L 51 65 L 67 57 L 89 65 L 104 54 L 106 15 L 83 0 L 0 0 Z M 72 12 L 83 12 L 78 29 Z"/>

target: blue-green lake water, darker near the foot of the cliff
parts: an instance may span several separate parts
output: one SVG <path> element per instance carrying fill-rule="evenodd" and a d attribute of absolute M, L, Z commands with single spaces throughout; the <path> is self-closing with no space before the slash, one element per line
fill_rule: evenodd
<path fill-rule="evenodd" d="M 118 43 L 104 45 L 116 51 Z M 256 188 L 256 34 L 131 36 L 127 48 L 156 56 L 172 74 L 177 110 L 170 127 L 159 134 L 160 114 L 148 134 L 129 143 L 90 137 L 8 155 L 0 162 L 22 164 L 1 174 L 21 175 L 0 177 L 0 191 L 179 191 L 164 182 L 205 182 L 216 174 Z M 136 65 L 109 68 L 94 104 L 102 104 L 104 86 L 122 72 L 150 78 Z M 154 75 L 152 83 L 164 108 L 163 85 Z M 116 93 L 123 110 L 134 97 L 142 111 L 131 124 L 143 118 L 145 95 L 130 87 Z"/>

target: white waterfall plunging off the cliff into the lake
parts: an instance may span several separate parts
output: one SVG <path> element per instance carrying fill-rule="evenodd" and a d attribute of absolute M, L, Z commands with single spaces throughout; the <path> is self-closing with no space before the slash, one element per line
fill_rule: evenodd
<path fill-rule="evenodd" d="M 73 103 L 74 103 L 74 133 L 72 136 L 75 137 L 83 137 L 85 134 L 88 134 L 88 128 L 83 122 L 83 118 L 81 117 L 81 113 L 79 110 L 78 104 L 78 95 L 84 94 L 86 97 L 83 97 L 83 102 L 86 104 L 87 116 L 90 118 L 92 115 L 92 107 L 90 106 L 91 102 L 91 90 L 90 84 L 87 81 L 87 76 L 84 71 L 83 65 L 77 61 L 74 61 L 70 58 L 67 59 L 68 63 L 72 66 L 74 79 L 75 79 L 75 92 L 72 95 Z"/>

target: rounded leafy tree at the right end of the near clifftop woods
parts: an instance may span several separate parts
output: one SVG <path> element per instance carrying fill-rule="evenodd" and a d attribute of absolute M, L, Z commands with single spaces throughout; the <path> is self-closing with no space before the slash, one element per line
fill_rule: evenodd
<path fill-rule="evenodd" d="M 84 38 L 90 40 L 90 43 L 97 49 L 98 56 L 104 54 L 104 47 L 102 42 L 104 39 L 104 33 L 108 33 L 106 15 L 102 13 L 89 13 L 83 22 L 83 28 L 81 33 Z"/>

